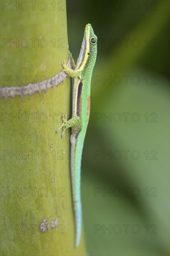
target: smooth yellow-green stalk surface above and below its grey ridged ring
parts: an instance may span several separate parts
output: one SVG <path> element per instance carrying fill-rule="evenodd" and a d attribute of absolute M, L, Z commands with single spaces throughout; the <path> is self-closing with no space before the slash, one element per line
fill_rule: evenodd
<path fill-rule="evenodd" d="M 59 73 L 69 57 L 65 0 L 4 2 L 1 86 Z M 55 133 L 61 113 L 71 116 L 70 78 L 47 93 L 0 104 L 1 255 L 86 255 L 83 236 L 74 248 L 70 131 L 63 139 Z"/>

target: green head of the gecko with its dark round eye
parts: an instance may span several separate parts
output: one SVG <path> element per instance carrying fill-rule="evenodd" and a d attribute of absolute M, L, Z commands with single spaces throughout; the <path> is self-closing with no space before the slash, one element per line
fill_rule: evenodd
<path fill-rule="evenodd" d="M 97 36 L 94 34 L 93 29 L 92 29 L 92 25 L 91 24 L 87 24 L 85 26 L 85 34 L 84 37 L 86 39 L 86 43 L 87 43 L 87 55 L 89 59 L 94 60 L 94 63 L 96 61 L 96 56 L 97 56 L 97 42 L 98 42 L 98 38 Z"/>

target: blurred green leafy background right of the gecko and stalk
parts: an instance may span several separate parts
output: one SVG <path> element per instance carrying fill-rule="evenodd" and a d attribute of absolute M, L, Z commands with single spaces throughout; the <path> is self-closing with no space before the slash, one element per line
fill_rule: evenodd
<path fill-rule="evenodd" d="M 169 255 L 170 1 L 66 3 L 75 60 L 85 24 L 98 36 L 82 159 L 88 252 Z"/>

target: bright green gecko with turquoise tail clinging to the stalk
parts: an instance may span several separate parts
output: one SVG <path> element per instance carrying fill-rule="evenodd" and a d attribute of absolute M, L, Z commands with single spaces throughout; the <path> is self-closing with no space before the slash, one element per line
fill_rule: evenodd
<path fill-rule="evenodd" d="M 70 141 L 72 201 L 76 230 L 75 247 L 78 247 L 81 237 L 81 157 L 90 115 L 90 88 L 92 71 L 97 57 L 97 40 L 92 25 L 87 24 L 85 26 L 84 38 L 76 66 L 73 59 L 73 69 L 67 67 L 65 61 L 62 62 L 63 71 L 70 77 L 74 77 L 72 118 L 67 121 L 67 116 L 62 115 L 63 123 L 56 129 L 56 133 L 63 128 L 61 133 L 61 137 L 63 138 L 65 129 L 72 128 Z"/>

